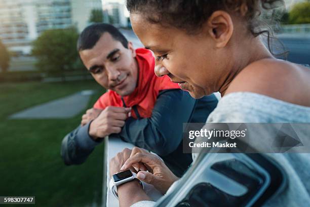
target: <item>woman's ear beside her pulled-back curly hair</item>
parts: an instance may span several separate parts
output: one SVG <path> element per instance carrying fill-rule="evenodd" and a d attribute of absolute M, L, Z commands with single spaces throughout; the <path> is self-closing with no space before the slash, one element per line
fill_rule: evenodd
<path fill-rule="evenodd" d="M 208 33 L 215 41 L 216 48 L 223 48 L 229 42 L 234 24 L 232 24 L 231 16 L 225 11 L 215 11 L 209 17 L 207 24 Z"/>

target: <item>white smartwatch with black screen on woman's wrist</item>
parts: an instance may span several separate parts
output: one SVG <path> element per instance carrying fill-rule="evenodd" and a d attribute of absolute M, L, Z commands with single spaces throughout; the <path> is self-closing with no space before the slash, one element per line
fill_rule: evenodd
<path fill-rule="evenodd" d="M 109 183 L 110 191 L 117 199 L 119 199 L 117 186 L 122 185 L 124 183 L 128 183 L 133 180 L 139 181 L 140 185 L 144 189 L 142 182 L 139 179 L 137 179 L 137 174 L 128 169 L 126 171 L 119 172 L 112 176 Z"/>

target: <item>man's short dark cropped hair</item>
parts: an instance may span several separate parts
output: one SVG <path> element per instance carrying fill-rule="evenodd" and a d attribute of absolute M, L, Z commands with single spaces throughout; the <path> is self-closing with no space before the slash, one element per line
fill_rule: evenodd
<path fill-rule="evenodd" d="M 120 41 L 125 48 L 128 48 L 128 41 L 124 35 L 111 24 L 96 23 L 86 27 L 79 36 L 76 48 L 78 51 L 92 49 L 102 34 L 108 32 L 116 41 Z"/>

